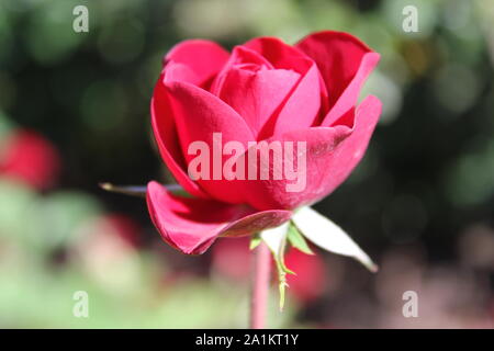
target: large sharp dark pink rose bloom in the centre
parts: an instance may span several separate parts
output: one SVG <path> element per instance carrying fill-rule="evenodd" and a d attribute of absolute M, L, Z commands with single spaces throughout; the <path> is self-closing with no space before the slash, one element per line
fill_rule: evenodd
<path fill-rule="evenodd" d="M 356 37 L 330 31 L 294 46 L 254 38 L 232 53 L 203 39 L 176 45 L 155 87 L 151 123 L 165 163 L 193 197 L 148 184 L 149 213 L 162 238 L 184 253 L 202 253 L 220 236 L 279 226 L 332 193 L 362 158 L 381 113 L 375 97 L 357 105 L 379 57 Z M 288 192 L 287 179 L 193 181 L 188 148 L 202 140 L 213 149 L 214 133 L 245 150 L 249 141 L 305 141 L 306 186 Z"/>

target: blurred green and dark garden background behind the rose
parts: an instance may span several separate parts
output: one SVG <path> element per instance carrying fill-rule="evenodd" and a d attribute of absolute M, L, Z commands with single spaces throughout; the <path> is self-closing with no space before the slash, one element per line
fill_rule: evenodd
<path fill-rule="evenodd" d="M 79 4 L 88 33 L 72 30 Z M 417 33 L 402 29 L 409 4 Z M 362 93 L 384 109 L 368 154 L 315 206 L 381 271 L 295 254 L 299 283 L 282 314 L 272 290 L 269 326 L 493 327 L 493 23 L 484 0 L 0 0 L 0 327 L 246 327 L 246 261 L 228 256 L 245 241 L 184 257 L 144 201 L 98 183 L 171 182 L 148 105 L 173 44 L 318 30 L 382 55 Z M 402 315 L 408 290 L 418 318 Z M 78 291 L 89 318 L 74 316 Z"/>

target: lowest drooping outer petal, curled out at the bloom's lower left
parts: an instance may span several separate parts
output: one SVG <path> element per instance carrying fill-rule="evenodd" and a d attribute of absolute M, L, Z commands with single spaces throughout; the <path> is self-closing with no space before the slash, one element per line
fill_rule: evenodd
<path fill-rule="evenodd" d="M 257 212 L 245 205 L 180 197 L 150 182 L 147 188 L 149 214 L 161 237 L 189 254 L 203 253 L 220 236 L 243 236 L 281 225 L 291 212 Z"/>

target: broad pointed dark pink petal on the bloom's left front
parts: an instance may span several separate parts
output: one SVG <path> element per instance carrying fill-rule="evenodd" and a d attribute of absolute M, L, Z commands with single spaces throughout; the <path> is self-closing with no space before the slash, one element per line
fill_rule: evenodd
<path fill-rule="evenodd" d="M 221 133 L 222 145 L 234 140 L 242 143 L 245 149 L 247 143 L 255 139 L 244 118 L 210 92 L 181 81 L 167 82 L 167 91 L 172 99 L 175 122 L 187 161 L 195 158 L 195 155 L 188 155 L 189 146 L 193 141 L 205 141 L 213 154 L 214 133 Z M 220 157 L 222 165 L 229 158 L 222 155 Z M 212 173 L 212 163 L 210 170 Z M 216 200 L 228 203 L 244 202 L 242 192 L 232 188 L 233 182 L 199 179 L 198 183 Z"/>

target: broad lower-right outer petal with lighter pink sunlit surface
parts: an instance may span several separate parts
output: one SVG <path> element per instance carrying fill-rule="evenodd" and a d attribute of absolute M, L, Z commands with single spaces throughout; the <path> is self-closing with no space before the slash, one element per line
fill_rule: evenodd
<path fill-rule="evenodd" d="M 288 192 L 287 184 L 293 181 L 284 177 L 283 180 L 270 177 L 270 180 L 245 181 L 248 203 L 258 210 L 293 210 L 327 196 L 362 158 L 380 113 L 381 102 L 375 97 L 368 97 L 358 106 L 355 118 L 350 110 L 335 127 L 295 131 L 277 138 L 280 141 L 306 141 L 306 173 L 301 174 L 305 176 L 305 188 L 300 192 Z M 274 167 L 272 159 L 269 167 Z"/>

